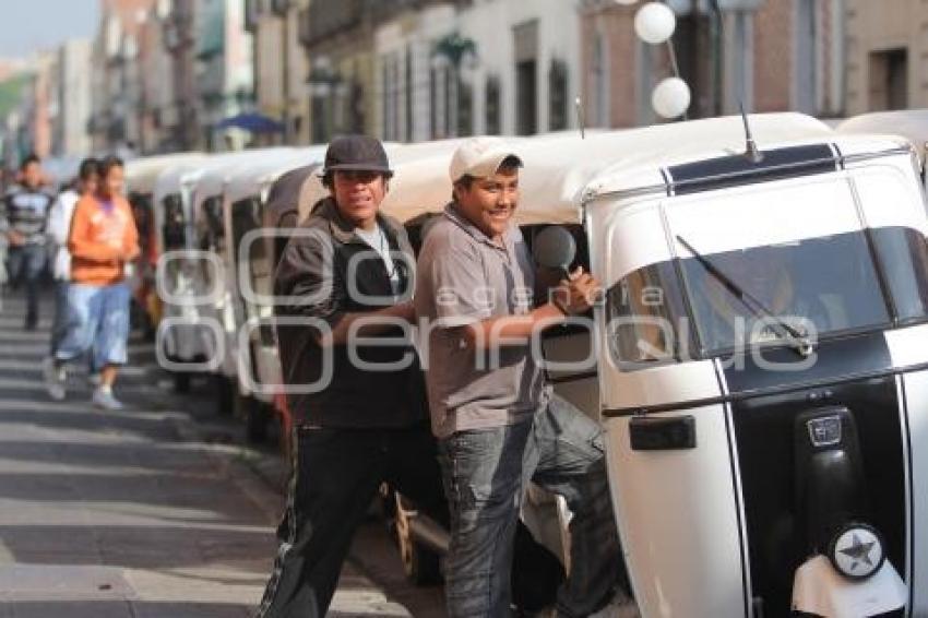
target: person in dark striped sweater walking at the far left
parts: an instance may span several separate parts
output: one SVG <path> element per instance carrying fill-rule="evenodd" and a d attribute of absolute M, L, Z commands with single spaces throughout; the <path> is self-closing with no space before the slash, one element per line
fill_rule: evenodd
<path fill-rule="evenodd" d="M 46 227 L 52 198 L 43 188 L 41 162 L 27 156 L 20 180 L 3 195 L 0 229 L 8 241 L 7 271 L 13 287 L 25 285 L 25 329 L 38 325 L 38 286 L 46 264 Z"/>

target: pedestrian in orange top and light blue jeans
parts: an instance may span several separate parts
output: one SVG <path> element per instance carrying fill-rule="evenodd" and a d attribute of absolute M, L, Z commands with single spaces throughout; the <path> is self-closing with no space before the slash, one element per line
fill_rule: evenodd
<path fill-rule="evenodd" d="M 94 350 L 100 367 L 100 384 L 94 405 L 120 409 L 112 394 L 118 368 L 128 360 L 129 285 L 127 264 L 139 255 L 139 238 L 132 209 L 122 195 L 122 161 L 109 156 L 99 166 L 95 194 L 78 201 L 68 236 L 71 285 L 68 288 L 68 325 L 45 372 L 46 387 L 55 400 L 66 395 L 66 365 Z"/>

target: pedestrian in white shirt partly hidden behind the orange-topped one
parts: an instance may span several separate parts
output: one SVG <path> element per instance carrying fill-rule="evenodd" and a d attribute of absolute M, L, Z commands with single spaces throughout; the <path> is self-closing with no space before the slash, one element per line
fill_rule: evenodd
<path fill-rule="evenodd" d="M 68 234 L 74 206 L 83 195 L 96 191 L 99 181 L 99 162 L 85 158 L 78 170 L 74 186 L 62 191 L 48 213 L 46 231 L 52 243 L 52 276 L 55 277 L 55 320 L 51 323 L 49 357 L 53 358 L 64 333 L 68 331 L 68 286 L 71 282 L 71 253 L 68 251 Z M 93 371 L 93 368 L 92 368 Z"/>

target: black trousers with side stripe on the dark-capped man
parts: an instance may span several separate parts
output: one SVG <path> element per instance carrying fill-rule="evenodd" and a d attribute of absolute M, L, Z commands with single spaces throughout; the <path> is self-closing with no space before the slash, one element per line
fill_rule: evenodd
<path fill-rule="evenodd" d="M 435 438 L 411 429 L 310 429 L 293 436 L 287 507 L 259 618 L 325 616 L 355 531 L 381 483 L 447 520 Z"/>

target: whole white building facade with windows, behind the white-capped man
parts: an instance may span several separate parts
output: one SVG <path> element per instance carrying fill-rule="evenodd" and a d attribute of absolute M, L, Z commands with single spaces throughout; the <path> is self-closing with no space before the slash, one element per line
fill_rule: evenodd
<path fill-rule="evenodd" d="M 531 135 L 578 126 L 579 1 L 406 4 L 374 34 L 379 134 Z"/>

